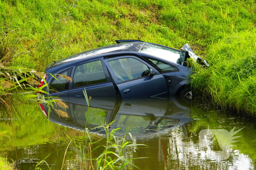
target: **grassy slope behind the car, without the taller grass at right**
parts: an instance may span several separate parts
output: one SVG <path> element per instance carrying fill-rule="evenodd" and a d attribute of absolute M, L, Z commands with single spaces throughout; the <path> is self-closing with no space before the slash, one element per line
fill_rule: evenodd
<path fill-rule="evenodd" d="M 116 39 L 139 39 L 198 54 L 235 32 L 255 28 L 254 1 L 1 1 L 0 30 L 18 35 L 10 62 L 44 71 L 53 60 Z M 106 43 L 107 42 L 107 43 Z"/>

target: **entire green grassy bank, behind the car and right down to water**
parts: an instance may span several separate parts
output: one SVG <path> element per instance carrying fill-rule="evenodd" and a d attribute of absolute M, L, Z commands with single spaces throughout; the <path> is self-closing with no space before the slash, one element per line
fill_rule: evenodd
<path fill-rule="evenodd" d="M 44 71 L 53 60 L 117 39 L 189 43 L 211 64 L 193 86 L 222 106 L 255 113 L 255 11 L 253 0 L 2 0 L 0 59 Z"/>

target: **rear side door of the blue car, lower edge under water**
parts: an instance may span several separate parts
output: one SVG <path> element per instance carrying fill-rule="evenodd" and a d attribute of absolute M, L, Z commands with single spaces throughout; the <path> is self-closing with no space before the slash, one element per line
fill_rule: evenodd
<path fill-rule="evenodd" d="M 69 102 L 85 104 L 84 89 L 91 97 L 117 96 L 105 63 L 101 59 L 75 64 L 71 76 L 73 81 L 69 84 Z"/>

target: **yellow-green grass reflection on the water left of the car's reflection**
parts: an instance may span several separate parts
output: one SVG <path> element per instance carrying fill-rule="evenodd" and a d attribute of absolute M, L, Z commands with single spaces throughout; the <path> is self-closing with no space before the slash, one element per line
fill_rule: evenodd
<path fill-rule="evenodd" d="M 9 106 L 12 111 L 1 110 L 1 114 L 8 112 L 8 118 L 11 120 L 4 119 L 0 122 L 0 150 L 61 141 L 65 139 L 65 135 L 61 135 L 62 131 L 66 131 L 72 137 L 79 135 L 75 130 L 64 126 L 56 129 L 55 124 L 45 118 L 37 103 L 15 96 L 10 99 Z"/>

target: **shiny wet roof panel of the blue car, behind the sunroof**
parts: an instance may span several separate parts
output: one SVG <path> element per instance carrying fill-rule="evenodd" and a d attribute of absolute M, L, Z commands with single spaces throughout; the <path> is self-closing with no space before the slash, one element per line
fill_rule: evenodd
<path fill-rule="evenodd" d="M 110 53 L 116 53 L 116 52 L 138 52 L 140 49 L 144 46 L 146 42 L 128 42 L 128 43 L 119 43 L 119 44 L 112 44 L 109 46 L 103 46 L 103 47 L 98 47 L 94 48 L 91 50 L 83 51 L 65 58 L 62 58 L 60 60 L 57 60 L 56 62 L 50 63 L 46 67 L 46 71 L 56 67 L 60 66 L 62 64 L 68 63 L 68 62 L 73 62 L 85 58 L 93 58 L 94 56 L 98 56 L 101 54 L 110 54 Z"/>

